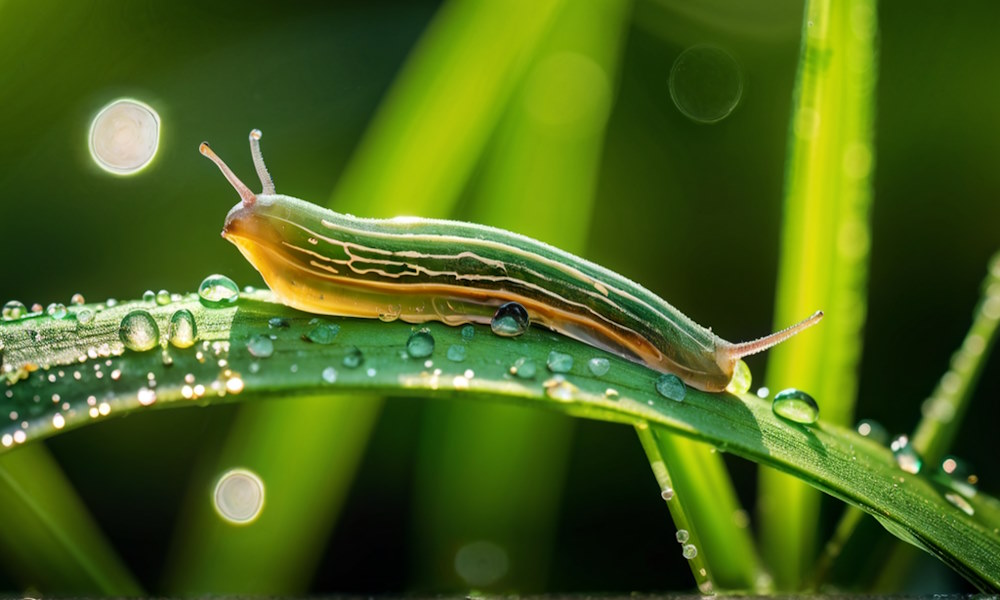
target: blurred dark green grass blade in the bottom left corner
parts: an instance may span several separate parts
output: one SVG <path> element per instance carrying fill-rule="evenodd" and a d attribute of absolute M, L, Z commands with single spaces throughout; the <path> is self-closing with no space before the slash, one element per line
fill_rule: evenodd
<path fill-rule="evenodd" d="M 144 592 L 42 445 L 0 457 L 0 556 L 24 587 L 70 595 Z"/>

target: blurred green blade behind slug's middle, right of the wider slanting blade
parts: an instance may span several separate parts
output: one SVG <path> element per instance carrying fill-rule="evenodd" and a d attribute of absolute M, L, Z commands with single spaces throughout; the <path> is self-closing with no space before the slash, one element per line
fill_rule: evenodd
<path fill-rule="evenodd" d="M 630 9 L 630 0 L 595 0 L 558 15 L 496 129 L 465 216 L 583 248 Z M 516 407 L 428 406 L 413 520 L 419 587 L 544 589 L 572 429 Z M 484 544 L 509 565 L 492 587 L 453 566 Z"/>

